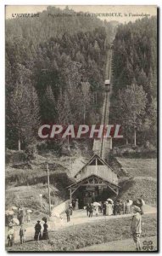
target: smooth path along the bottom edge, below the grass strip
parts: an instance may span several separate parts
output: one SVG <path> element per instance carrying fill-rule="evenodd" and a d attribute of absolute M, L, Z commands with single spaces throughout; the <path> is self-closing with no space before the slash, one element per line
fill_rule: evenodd
<path fill-rule="evenodd" d="M 152 243 L 152 247 L 148 245 L 148 241 Z M 146 245 L 145 245 L 146 243 Z M 157 236 L 150 236 L 141 239 L 142 251 L 156 251 L 157 250 Z M 80 248 L 78 251 L 135 251 L 135 245 L 132 239 L 121 241 L 109 241 L 102 244 L 96 244 L 91 247 Z"/>

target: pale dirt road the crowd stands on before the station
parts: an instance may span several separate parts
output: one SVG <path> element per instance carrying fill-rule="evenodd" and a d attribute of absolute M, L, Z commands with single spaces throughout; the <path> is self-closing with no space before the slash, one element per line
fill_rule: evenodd
<path fill-rule="evenodd" d="M 156 208 L 150 207 L 148 205 L 144 206 L 143 208 L 145 214 L 154 214 L 156 213 Z M 116 216 L 103 216 L 102 213 L 99 214 L 98 217 L 93 216 L 92 218 L 87 217 L 87 212 L 86 210 L 78 210 L 74 211 L 73 215 L 70 216 L 70 222 L 67 223 L 66 221 L 66 215 L 65 213 L 61 214 L 62 218 L 56 218 L 53 217 L 50 219 L 50 221 L 47 222 L 48 224 L 48 230 L 53 231 L 53 230 L 61 230 L 64 228 L 68 228 L 70 226 L 75 226 L 78 224 L 85 224 L 85 223 L 93 223 L 93 222 L 98 222 L 100 220 L 105 220 L 108 221 L 109 219 L 116 219 L 116 218 L 127 218 L 131 217 L 131 214 L 125 214 L 125 215 L 116 215 Z M 34 226 L 36 224 L 36 221 L 32 221 L 30 224 L 24 224 L 25 227 L 25 239 L 26 240 L 33 240 L 34 237 Z M 43 222 L 41 223 L 43 224 Z M 7 229 L 6 229 L 7 230 Z M 20 236 L 19 236 L 19 230 L 20 227 L 15 227 L 15 242 L 20 241 Z"/>

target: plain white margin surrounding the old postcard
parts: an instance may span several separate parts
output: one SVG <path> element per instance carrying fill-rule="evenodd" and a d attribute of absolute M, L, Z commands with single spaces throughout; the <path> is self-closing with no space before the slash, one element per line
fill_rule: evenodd
<path fill-rule="evenodd" d="M 1 17 L 1 22 L 0 22 L 0 80 L 1 80 L 1 89 L 0 89 L 0 120 L 1 120 L 1 125 L 0 125 L 0 135 L 1 135 L 1 142 L 0 142 L 0 166 L 1 166 L 1 180 L 0 180 L 0 220 L 1 220 L 1 230 L 0 230 L 0 252 L 1 255 L 6 254 L 4 250 L 4 6 L 5 5 L 157 5 L 159 8 L 161 8 L 162 1 L 148 1 L 148 0 L 136 0 L 136 1 L 129 1 L 129 0 L 123 0 L 123 1 L 106 1 L 106 0 L 79 0 L 79 1 L 74 1 L 74 0 L 1 0 L 0 1 L 0 17 Z M 160 10 L 159 10 L 160 12 Z M 160 21 L 160 19 L 159 19 Z M 160 22 L 161 23 L 161 22 Z M 160 43 L 161 43 L 161 24 L 159 24 L 159 35 L 160 35 Z M 161 44 L 159 44 L 160 46 Z M 160 56 L 159 59 L 161 59 L 161 51 L 159 51 Z M 161 82 L 161 77 L 159 79 L 159 84 Z M 160 87 L 160 86 L 159 86 Z M 161 100 L 161 91 L 159 90 L 159 102 Z M 160 105 L 159 105 L 160 107 Z M 160 110 L 160 108 L 159 108 Z M 161 113 L 159 113 L 159 127 L 161 127 Z M 160 129 L 161 131 L 161 129 Z M 159 139 L 160 145 L 161 145 L 161 137 Z M 161 152 L 159 154 L 159 159 L 161 159 Z M 159 166 L 160 167 L 160 166 Z M 160 172 L 159 168 L 159 172 Z M 160 180 L 161 181 L 161 180 Z M 160 181 L 159 181 L 159 189 L 160 189 Z M 161 205 L 161 197 L 160 199 L 160 205 Z M 159 217 L 160 217 L 160 212 L 159 212 Z M 160 221 L 159 224 L 162 222 Z M 161 225 L 160 225 L 161 227 Z M 160 229 L 161 230 L 161 229 Z M 21 254 L 21 253 L 14 253 L 16 254 Z M 30 253 L 31 255 L 35 255 L 35 253 Z M 48 255 L 48 253 L 43 253 Z M 56 254 L 56 253 L 54 253 Z M 60 253 L 58 253 L 60 255 Z M 74 254 L 74 253 L 73 253 Z M 85 253 L 84 253 L 85 254 Z M 86 253 L 87 254 L 87 253 Z M 100 253 L 98 253 L 100 254 Z M 116 255 L 120 253 L 115 253 Z M 130 253 L 131 254 L 131 253 Z M 139 255 L 139 253 L 137 253 Z M 141 253 L 140 253 L 141 254 Z M 145 253 L 146 255 L 146 253 Z"/>

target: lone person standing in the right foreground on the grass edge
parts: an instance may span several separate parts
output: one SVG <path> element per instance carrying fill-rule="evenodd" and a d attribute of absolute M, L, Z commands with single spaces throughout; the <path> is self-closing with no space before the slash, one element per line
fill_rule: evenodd
<path fill-rule="evenodd" d="M 133 237 L 133 241 L 136 244 L 137 251 L 141 251 L 141 244 L 140 244 L 140 236 L 141 236 L 141 223 L 142 223 L 142 216 L 141 216 L 141 209 L 140 207 L 134 206 L 132 208 L 133 217 L 131 219 L 131 235 Z"/>

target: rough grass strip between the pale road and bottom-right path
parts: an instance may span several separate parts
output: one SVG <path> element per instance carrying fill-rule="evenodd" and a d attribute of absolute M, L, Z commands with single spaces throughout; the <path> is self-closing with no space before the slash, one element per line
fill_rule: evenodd
<path fill-rule="evenodd" d="M 142 237 L 157 235 L 155 214 L 142 217 Z M 64 230 L 49 232 L 48 241 L 26 241 L 23 245 L 7 247 L 9 251 L 73 251 L 83 247 L 109 241 L 122 241 L 131 238 L 131 218 L 101 220 L 98 223 L 81 224 Z"/>

